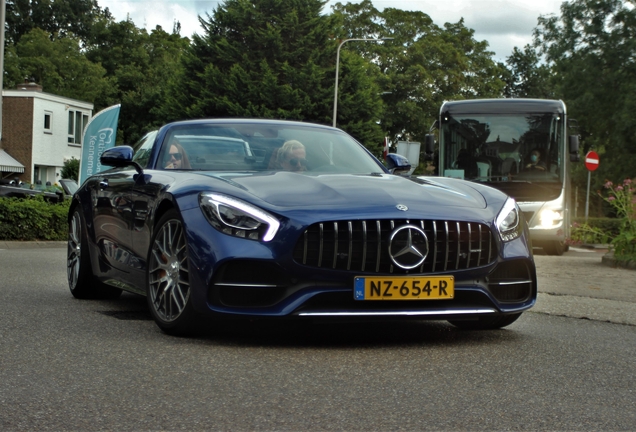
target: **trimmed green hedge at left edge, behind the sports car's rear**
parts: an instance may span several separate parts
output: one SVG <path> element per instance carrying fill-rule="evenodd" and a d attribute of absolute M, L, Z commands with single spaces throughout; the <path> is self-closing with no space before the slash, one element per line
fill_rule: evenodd
<path fill-rule="evenodd" d="M 0 240 L 66 240 L 70 200 L 0 198 Z"/>

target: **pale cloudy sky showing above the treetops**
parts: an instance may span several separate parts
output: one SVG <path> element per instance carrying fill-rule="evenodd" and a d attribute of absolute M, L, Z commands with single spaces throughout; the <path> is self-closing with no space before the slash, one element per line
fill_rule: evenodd
<path fill-rule="evenodd" d="M 221 0 L 97 0 L 117 21 L 130 17 L 137 27 L 148 31 L 160 25 L 172 31 L 175 20 L 181 23 L 181 35 L 201 33 L 198 15 L 212 15 Z M 356 1 L 351 1 L 356 3 Z M 505 61 L 514 47 L 522 49 L 532 42 L 532 30 L 541 15 L 559 14 L 560 0 L 372 0 L 378 10 L 398 8 L 422 11 L 438 26 L 464 18 L 466 27 L 475 30 L 475 39 L 487 41 L 495 60 Z M 331 11 L 329 1 L 326 12 Z M 340 3 L 348 3 L 341 0 Z"/>

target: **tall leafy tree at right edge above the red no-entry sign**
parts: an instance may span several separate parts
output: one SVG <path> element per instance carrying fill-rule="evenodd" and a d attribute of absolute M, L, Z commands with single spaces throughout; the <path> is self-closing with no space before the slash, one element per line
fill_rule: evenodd
<path fill-rule="evenodd" d="M 621 0 L 574 0 L 559 16 L 539 18 L 534 32 L 557 94 L 578 120 L 583 152 L 601 155 L 594 189 L 636 173 L 636 9 Z M 579 167 L 583 186 L 586 172 Z"/>

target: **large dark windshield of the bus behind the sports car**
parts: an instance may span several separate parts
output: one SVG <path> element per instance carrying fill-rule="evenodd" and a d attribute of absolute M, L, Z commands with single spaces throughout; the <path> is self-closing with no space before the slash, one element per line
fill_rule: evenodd
<path fill-rule="evenodd" d="M 559 114 L 442 115 L 440 174 L 483 182 L 561 183 Z"/>

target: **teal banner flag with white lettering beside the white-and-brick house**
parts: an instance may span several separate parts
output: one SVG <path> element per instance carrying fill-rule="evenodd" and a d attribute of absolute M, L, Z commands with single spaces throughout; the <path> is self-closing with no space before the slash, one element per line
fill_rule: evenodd
<path fill-rule="evenodd" d="M 121 105 L 113 105 L 101 110 L 84 128 L 78 182 L 80 185 L 90 176 L 108 169 L 99 163 L 99 158 L 104 150 L 115 146 L 120 107 Z"/>

